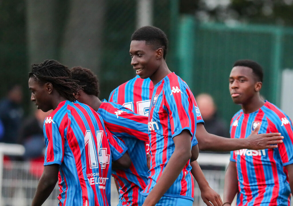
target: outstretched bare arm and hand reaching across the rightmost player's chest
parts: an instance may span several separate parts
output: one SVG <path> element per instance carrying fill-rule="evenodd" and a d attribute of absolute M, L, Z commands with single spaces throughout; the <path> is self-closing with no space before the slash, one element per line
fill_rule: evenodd
<path fill-rule="evenodd" d="M 196 125 L 196 139 L 200 150 L 205 151 L 234 151 L 241 149 L 263 150 L 267 148 L 276 148 L 284 137 L 281 133 L 258 134 L 260 126 L 247 138 L 224 138 L 208 133 L 202 123 Z M 215 144 L 216 143 L 216 144 Z"/>

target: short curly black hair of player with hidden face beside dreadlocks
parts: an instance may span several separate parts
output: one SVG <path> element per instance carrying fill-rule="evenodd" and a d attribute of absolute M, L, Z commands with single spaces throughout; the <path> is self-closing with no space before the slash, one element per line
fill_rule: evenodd
<path fill-rule="evenodd" d="M 99 95 L 99 82 L 97 76 L 89 69 L 81 66 L 71 68 L 72 78 L 77 80 L 82 90 L 88 95 Z"/>

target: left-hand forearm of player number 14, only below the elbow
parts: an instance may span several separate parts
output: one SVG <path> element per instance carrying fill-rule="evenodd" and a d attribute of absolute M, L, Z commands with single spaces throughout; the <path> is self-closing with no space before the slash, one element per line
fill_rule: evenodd
<path fill-rule="evenodd" d="M 42 175 L 37 187 L 37 191 L 32 201 L 32 206 L 42 205 L 53 191 L 58 178 L 50 178 Z"/>

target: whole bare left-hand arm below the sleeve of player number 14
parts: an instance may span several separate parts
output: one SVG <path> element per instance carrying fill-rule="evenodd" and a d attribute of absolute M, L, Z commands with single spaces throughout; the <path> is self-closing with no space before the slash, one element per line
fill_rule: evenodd
<path fill-rule="evenodd" d="M 32 206 L 42 205 L 49 197 L 58 181 L 59 164 L 44 166 L 37 191 L 33 198 Z"/>

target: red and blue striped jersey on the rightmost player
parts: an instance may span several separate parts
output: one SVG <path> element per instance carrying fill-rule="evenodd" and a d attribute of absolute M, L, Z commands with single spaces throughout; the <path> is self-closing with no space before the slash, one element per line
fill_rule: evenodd
<path fill-rule="evenodd" d="M 239 193 L 237 205 L 290 205 L 288 172 L 293 163 L 292 121 L 274 104 L 265 101 L 257 111 L 239 110 L 231 120 L 231 138 L 247 138 L 260 124 L 258 133 L 280 132 L 283 143 L 275 149 L 231 151 L 236 162 Z"/>

